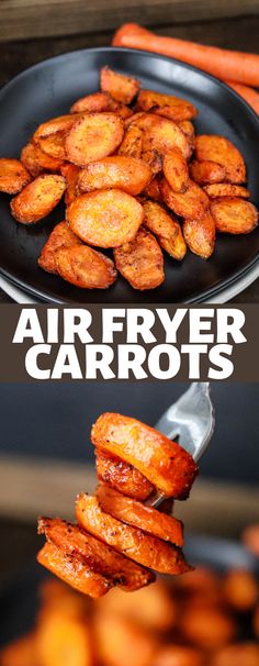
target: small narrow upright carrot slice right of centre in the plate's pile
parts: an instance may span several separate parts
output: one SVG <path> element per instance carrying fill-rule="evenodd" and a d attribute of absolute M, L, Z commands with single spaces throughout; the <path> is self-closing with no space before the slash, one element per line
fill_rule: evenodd
<path fill-rule="evenodd" d="M 179 148 L 166 153 L 162 163 L 164 174 L 174 192 L 184 192 L 189 185 L 188 164 Z"/>

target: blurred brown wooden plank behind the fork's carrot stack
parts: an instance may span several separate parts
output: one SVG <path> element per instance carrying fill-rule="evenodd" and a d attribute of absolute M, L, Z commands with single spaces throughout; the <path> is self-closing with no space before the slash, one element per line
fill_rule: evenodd
<path fill-rule="evenodd" d="M 74 519 L 78 492 L 92 492 L 93 467 L 72 462 L 0 456 L 0 518 L 35 522 L 37 515 Z M 256 488 L 198 478 L 190 501 L 177 502 L 177 517 L 189 532 L 238 537 L 259 522 Z"/>

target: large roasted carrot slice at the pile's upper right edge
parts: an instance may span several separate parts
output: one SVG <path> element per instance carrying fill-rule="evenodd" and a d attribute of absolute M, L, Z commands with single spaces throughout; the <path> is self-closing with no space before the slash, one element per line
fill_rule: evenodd
<path fill-rule="evenodd" d="M 246 166 L 239 151 L 234 144 L 216 134 L 202 134 L 195 138 L 196 158 L 209 159 L 221 164 L 226 169 L 226 180 L 239 184 L 246 180 Z"/>

